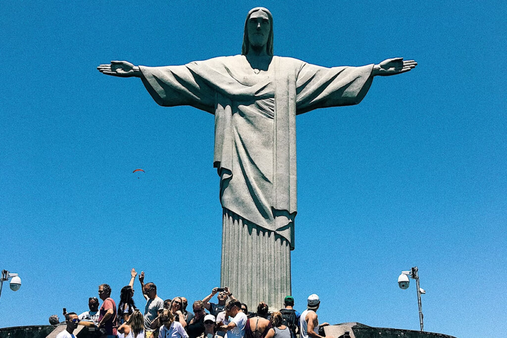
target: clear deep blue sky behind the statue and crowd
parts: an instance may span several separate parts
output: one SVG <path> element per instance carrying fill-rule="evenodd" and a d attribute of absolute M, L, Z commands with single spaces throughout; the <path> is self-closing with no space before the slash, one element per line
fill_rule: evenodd
<path fill-rule="evenodd" d="M 418 329 L 415 283 L 396 283 L 418 266 L 427 331 L 506 336 L 507 9 L 488 1 L 4 1 L 0 269 L 23 284 L 4 285 L 0 327 L 85 311 L 101 283 L 118 299 L 132 267 L 163 298 L 220 283 L 213 116 L 95 67 L 238 54 L 256 6 L 276 55 L 419 62 L 298 117 L 296 309 L 316 292 L 321 321 Z"/>

